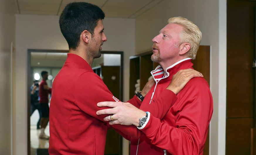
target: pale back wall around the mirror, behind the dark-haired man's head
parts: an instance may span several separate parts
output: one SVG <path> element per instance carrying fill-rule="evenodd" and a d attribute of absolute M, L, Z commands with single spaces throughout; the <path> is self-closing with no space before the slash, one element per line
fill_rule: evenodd
<path fill-rule="evenodd" d="M 58 16 L 16 15 L 16 150 L 27 154 L 27 50 L 68 50 L 58 24 Z M 103 21 L 107 42 L 104 51 L 124 51 L 124 85 L 129 83 L 129 56 L 134 55 L 135 20 L 106 18 Z M 129 88 L 124 87 L 128 100 Z"/>

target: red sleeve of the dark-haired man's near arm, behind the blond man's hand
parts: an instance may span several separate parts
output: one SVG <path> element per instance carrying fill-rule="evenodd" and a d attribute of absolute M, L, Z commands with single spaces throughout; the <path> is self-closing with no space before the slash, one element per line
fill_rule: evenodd
<path fill-rule="evenodd" d="M 90 88 L 90 90 L 86 91 L 84 88 Z M 108 90 L 107 86 L 104 84 L 101 78 L 95 73 L 85 73 L 84 75 L 80 76 L 76 85 L 76 90 L 79 93 L 77 93 L 77 95 L 75 96 L 75 104 L 77 104 L 77 106 L 79 106 L 79 108 L 88 115 L 97 118 L 101 121 L 103 121 L 104 117 L 109 115 L 96 115 L 96 111 L 106 109 L 109 107 L 98 107 L 97 103 L 102 101 L 119 101 L 113 96 L 113 94 Z M 169 93 L 173 92 L 170 91 Z M 138 106 L 138 101 L 140 100 L 136 98 L 137 97 L 133 97 L 133 99 L 129 101 L 132 101 L 133 104 Z M 174 100 L 176 100 L 176 98 Z M 156 105 L 160 105 L 162 101 L 169 103 L 169 101 L 174 100 L 166 98 L 165 94 L 163 94 L 159 97 L 159 99 L 154 100 L 154 102 Z M 169 103 L 169 106 L 171 104 L 172 103 Z M 168 104 L 166 104 L 165 106 L 168 106 Z M 157 106 L 149 106 L 147 109 L 145 109 L 145 111 L 157 111 L 153 113 L 156 114 L 156 116 L 161 116 L 162 113 L 164 113 L 161 110 L 166 110 L 166 108 L 163 108 L 163 106 L 159 110 L 156 110 L 155 108 L 157 108 Z M 140 138 L 141 136 L 144 136 L 144 133 L 138 130 L 138 128 L 134 125 L 112 125 L 112 127 L 114 129 L 117 129 L 117 131 L 127 139 L 129 139 L 129 137 Z"/>

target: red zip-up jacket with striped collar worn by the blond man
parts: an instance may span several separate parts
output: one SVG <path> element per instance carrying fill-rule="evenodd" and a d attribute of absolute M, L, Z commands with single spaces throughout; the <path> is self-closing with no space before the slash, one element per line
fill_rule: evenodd
<path fill-rule="evenodd" d="M 166 104 L 165 99 L 168 99 L 169 95 L 165 88 L 171 82 L 172 76 L 178 70 L 192 66 L 191 58 L 179 61 L 167 68 L 165 77 L 164 71 L 158 66 L 151 72 L 156 85 L 148 92 L 140 109 L 147 111 L 148 106 L 155 104 L 154 101 L 159 97 L 162 103 Z M 155 113 L 160 110 L 161 108 L 150 109 L 147 122 L 140 128 L 144 136 L 136 130 L 123 134 L 123 137 L 131 141 L 130 154 L 202 155 L 213 113 L 212 95 L 206 80 L 191 79 L 177 94 L 177 101 L 166 109 L 168 112 L 163 112 L 164 117 L 155 117 Z"/>

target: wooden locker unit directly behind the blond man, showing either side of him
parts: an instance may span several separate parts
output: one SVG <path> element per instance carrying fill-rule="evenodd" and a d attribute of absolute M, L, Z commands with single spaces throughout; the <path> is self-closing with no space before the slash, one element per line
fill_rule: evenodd
<path fill-rule="evenodd" d="M 158 63 L 153 63 L 150 59 L 152 51 L 130 57 L 130 98 L 134 96 L 134 85 L 136 80 L 140 79 L 140 88 L 142 89 L 148 82 L 150 71 L 157 67 Z M 204 78 L 210 83 L 210 46 L 200 46 L 196 59 L 192 61 L 193 68 L 203 73 Z M 143 65 L 142 65 L 143 64 Z M 142 75 L 142 76 L 140 76 Z M 144 76 L 143 76 L 144 75 Z M 209 154 L 209 132 L 204 147 L 204 155 Z"/>

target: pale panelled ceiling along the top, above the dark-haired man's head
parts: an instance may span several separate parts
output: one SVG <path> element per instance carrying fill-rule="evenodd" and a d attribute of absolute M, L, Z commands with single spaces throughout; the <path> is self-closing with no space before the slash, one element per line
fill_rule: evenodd
<path fill-rule="evenodd" d="M 137 18 L 163 0 L 13 0 L 17 14 L 60 15 L 74 1 L 99 6 L 108 18 Z"/>

